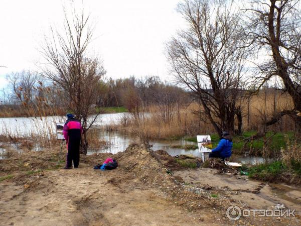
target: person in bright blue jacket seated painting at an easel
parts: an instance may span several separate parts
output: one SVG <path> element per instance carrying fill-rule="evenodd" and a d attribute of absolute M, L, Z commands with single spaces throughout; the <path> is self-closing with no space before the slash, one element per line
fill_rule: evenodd
<path fill-rule="evenodd" d="M 220 158 L 222 161 L 224 161 L 225 158 L 231 156 L 232 146 L 232 137 L 229 133 L 223 132 L 222 138 L 218 143 L 217 147 L 212 149 L 212 151 L 209 153 L 209 158 Z"/>

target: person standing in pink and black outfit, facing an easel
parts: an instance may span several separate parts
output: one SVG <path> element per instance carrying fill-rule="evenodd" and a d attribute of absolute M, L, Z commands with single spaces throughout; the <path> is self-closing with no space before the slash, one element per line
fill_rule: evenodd
<path fill-rule="evenodd" d="M 67 160 L 64 169 L 72 169 L 72 160 L 74 168 L 78 168 L 79 164 L 79 145 L 82 134 L 80 122 L 74 118 L 72 114 L 67 114 L 67 121 L 64 125 L 63 135 L 67 143 Z"/>

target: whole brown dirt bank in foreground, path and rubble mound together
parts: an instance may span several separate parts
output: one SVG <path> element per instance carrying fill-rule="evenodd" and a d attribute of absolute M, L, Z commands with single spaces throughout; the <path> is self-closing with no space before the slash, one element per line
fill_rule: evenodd
<path fill-rule="evenodd" d="M 192 186 L 186 176 L 193 176 L 194 172 L 197 176 L 201 169 L 184 170 L 179 166 L 178 171 L 174 168 L 174 175 L 167 173 L 169 164 L 164 159 L 169 157 L 155 158 L 153 152 L 140 145 L 131 145 L 115 155 L 82 156 L 79 169 L 72 170 L 61 169 L 63 161 L 60 168 L 56 166 L 58 148 L 0 160 L 1 175 L 13 176 L 0 182 L 0 205 L 3 206 L 0 222 L 11 225 L 232 225 L 226 217 L 226 209 L 241 203 L 222 193 L 213 197 L 212 189 L 194 181 Z M 109 156 L 118 161 L 117 169 L 92 169 Z M 211 178 L 208 186 L 218 187 L 214 181 Z M 248 217 L 235 224 L 296 225 L 300 223 L 297 220 Z"/>

